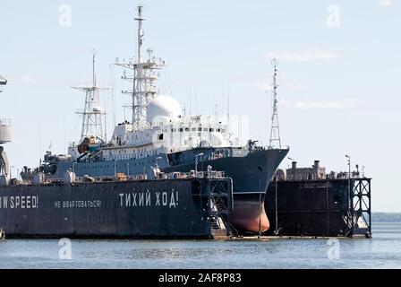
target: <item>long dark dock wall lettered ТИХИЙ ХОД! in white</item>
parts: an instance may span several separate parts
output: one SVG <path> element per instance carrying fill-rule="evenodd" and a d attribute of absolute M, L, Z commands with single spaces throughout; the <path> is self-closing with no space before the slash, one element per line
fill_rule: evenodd
<path fill-rule="evenodd" d="M 227 238 L 232 187 L 222 172 L 3 186 L 0 229 L 18 239 Z"/>

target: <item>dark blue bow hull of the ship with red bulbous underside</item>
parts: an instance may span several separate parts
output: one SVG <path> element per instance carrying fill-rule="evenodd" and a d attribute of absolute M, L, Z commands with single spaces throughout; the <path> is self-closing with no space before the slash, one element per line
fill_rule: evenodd
<path fill-rule="evenodd" d="M 198 151 L 198 152 L 201 152 Z M 265 232 L 269 230 L 269 218 L 264 199 L 270 180 L 286 157 L 288 150 L 264 150 L 251 152 L 244 157 L 229 157 L 213 161 L 202 161 L 198 170 L 223 170 L 233 178 L 234 211 L 230 222 L 239 232 Z M 166 172 L 195 170 L 194 164 L 175 166 Z"/>

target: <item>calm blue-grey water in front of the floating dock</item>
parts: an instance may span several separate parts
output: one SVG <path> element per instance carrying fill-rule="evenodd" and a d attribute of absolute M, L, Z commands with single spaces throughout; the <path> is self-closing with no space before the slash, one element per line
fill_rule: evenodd
<path fill-rule="evenodd" d="M 73 240 L 72 260 L 57 240 L 0 242 L 0 268 L 401 268 L 401 223 L 375 223 L 373 239 L 340 239 L 337 260 L 327 239 L 267 241 Z"/>

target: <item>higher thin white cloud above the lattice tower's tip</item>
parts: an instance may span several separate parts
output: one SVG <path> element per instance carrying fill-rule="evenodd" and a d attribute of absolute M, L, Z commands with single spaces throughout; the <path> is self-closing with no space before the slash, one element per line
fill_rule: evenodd
<path fill-rule="evenodd" d="M 278 60 L 287 62 L 311 62 L 311 61 L 329 61 L 342 57 L 340 53 L 334 51 L 321 50 L 315 48 L 313 50 L 295 51 L 295 52 L 269 52 L 265 55 L 267 58 L 277 58 Z"/>

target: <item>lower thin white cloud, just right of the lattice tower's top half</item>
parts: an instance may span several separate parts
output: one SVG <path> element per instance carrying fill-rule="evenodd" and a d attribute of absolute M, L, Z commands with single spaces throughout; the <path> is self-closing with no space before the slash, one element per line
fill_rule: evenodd
<path fill-rule="evenodd" d="M 343 100 L 282 100 L 280 104 L 294 109 L 346 109 L 363 103 L 360 98 Z"/>

